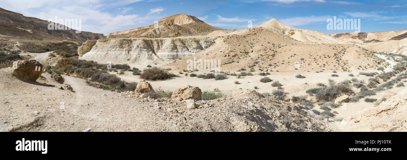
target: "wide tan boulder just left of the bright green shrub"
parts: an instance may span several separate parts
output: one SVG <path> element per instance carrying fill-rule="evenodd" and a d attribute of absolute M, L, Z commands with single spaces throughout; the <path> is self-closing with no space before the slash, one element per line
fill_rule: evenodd
<path fill-rule="evenodd" d="M 197 86 L 182 85 L 174 91 L 171 99 L 182 101 L 186 99 L 201 100 L 202 91 Z"/>

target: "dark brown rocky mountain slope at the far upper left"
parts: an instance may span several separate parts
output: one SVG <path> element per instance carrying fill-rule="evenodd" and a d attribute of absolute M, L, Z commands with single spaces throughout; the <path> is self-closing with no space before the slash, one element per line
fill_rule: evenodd
<path fill-rule="evenodd" d="M 103 34 L 76 30 L 49 30 L 46 20 L 25 17 L 20 13 L 0 8 L 0 35 L 23 37 L 26 39 L 65 39 L 85 42 L 89 39 L 105 38 Z"/>

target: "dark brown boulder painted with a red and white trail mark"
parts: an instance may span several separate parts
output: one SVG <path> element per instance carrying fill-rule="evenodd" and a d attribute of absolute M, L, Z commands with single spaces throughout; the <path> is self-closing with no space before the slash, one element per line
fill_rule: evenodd
<path fill-rule="evenodd" d="M 17 68 L 14 68 L 13 76 L 21 79 L 35 82 L 42 74 L 43 66 L 35 60 L 19 60 L 17 61 Z"/>

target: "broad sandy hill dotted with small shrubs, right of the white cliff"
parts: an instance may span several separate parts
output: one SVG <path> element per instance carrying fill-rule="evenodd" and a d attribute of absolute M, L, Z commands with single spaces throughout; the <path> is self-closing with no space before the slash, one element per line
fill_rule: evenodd
<path fill-rule="evenodd" d="M 263 72 L 332 72 L 381 65 L 378 57 L 357 45 L 302 42 L 280 32 L 289 27 L 262 26 L 241 32 L 244 34 L 220 37 L 208 49 L 168 66 L 185 68 L 186 61 L 194 57 L 220 59 L 224 71 L 252 68 Z M 295 67 L 296 63 L 300 68 Z"/>

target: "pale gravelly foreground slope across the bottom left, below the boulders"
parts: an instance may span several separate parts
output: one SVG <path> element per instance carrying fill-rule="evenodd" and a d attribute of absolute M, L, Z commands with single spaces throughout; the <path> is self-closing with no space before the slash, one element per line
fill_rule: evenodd
<path fill-rule="evenodd" d="M 0 69 L 0 131 L 13 132 L 259 132 L 329 131 L 326 123 L 302 106 L 256 91 L 214 100 L 187 109 L 185 101 L 152 99 L 88 86 L 83 79 L 63 75 L 73 91 L 43 74 L 25 82 Z"/>

